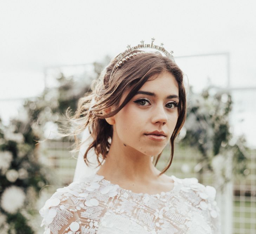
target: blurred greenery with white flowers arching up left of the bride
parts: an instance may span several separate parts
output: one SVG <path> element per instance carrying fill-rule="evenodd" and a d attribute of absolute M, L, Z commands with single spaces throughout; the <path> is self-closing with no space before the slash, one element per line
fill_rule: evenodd
<path fill-rule="evenodd" d="M 94 75 L 99 75 L 102 66 L 94 63 Z M 88 79 L 74 82 L 72 76 L 60 73 L 58 87 L 25 100 L 19 116 L 8 126 L 0 120 L 0 234 L 37 233 L 40 224 L 35 227 L 33 218 L 39 215 L 40 191 L 58 183 L 53 170 L 45 166 L 44 142 L 59 137 L 55 133 L 65 125 L 67 107 L 76 110 L 78 99 L 90 91 L 84 84 Z"/>

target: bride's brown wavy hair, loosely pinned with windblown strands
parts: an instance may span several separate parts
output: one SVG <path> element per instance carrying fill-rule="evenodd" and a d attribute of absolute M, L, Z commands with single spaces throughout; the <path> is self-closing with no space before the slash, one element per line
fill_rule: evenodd
<path fill-rule="evenodd" d="M 139 50 L 132 53 L 140 52 Z M 128 54 L 129 55 L 129 54 Z M 178 104 L 178 119 L 175 129 L 170 138 L 171 156 L 168 165 L 159 174 L 163 174 L 171 166 L 174 154 L 174 140 L 182 128 L 186 118 L 186 93 L 183 84 L 183 72 L 176 65 L 174 61 L 159 52 L 150 52 L 138 54 L 123 63 L 119 68 L 116 67 L 118 62 L 118 55 L 105 67 L 98 79 L 94 80 L 91 85 L 91 92 L 86 93 L 83 98 L 78 101 L 78 108 L 75 114 L 70 118 L 67 109 L 68 119 L 75 123 L 70 135 L 74 135 L 76 149 L 79 151 L 83 144 L 78 139 L 77 135 L 82 133 L 88 126 L 89 132 L 92 136 L 92 143 L 86 149 L 84 154 L 84 161 L 87 166 L 91 163 L 87 159 L 87 153 L 90 149 L 94 149 L 97 155 L 98 166 L 101 165 L 101 160 L 107 157 L 111 140 L 113 136 L 112 125 L 107 123 L 105 118 L 109 118 L 117 114 L 127 102 L 139 91 L 144 83 L 151 78 L 151 76 L 160 74 L 164 71 L 170 72 L 178 83 L 179 87 L 179 104 Z M 123 103 L 119 105 L 122 94 L 130 89 L 130 93 L 126 96 Z M 103 110 L 114 107 L 114 111 L 107 114 Z M 157 156 L 155 166 L 161 156 L 162 152 Z"/>

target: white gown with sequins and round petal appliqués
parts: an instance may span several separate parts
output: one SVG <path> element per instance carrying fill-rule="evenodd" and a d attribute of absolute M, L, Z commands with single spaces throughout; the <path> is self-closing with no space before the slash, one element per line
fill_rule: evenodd
<path fill-rule="evenodd" d="M 171 176 L 160 194 L 133 193 L 93 174 L 57 189 L 39 211 L 44 234 L 216 234 L 216 190 L 196 178 Z"/>

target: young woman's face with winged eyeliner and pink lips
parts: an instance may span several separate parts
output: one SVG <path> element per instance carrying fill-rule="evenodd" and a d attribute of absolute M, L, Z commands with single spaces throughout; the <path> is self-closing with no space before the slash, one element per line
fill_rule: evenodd
<path fill-rule="evenodd" d="M 156 79 L 145 82 L 138 93 L 113 116 L 113 137 L 123 145 L 149 156 L 162 152 L 170 141 L 178 119 L 179 89 L 175 77 L 169 72 L 153 78 L 156 76 Z M 119 103 L 129 92 L 124 92 Z M 158 133 L 149 134 L 154 131 Z"/>

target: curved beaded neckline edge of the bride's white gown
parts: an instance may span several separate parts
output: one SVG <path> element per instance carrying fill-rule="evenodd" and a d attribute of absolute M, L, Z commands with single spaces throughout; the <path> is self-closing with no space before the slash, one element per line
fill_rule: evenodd
<path fill-rule="evenodd" d="M 132 192 L 132 190 L 122 188 L 122 187 L 120 187 L 118 184 L 112 183 L 111 181 L 106 180 L 103 175 L 98 175 L 97 173 L 95 173 L 95 175 L 98 177 L 98 179 L 100 179 L 100 180 L 102 180 L 102 181 L 106 181 L 106 182 L 109 183 L 110 185 L 118 186 L 118 188 L 119 188 L 120 190 L 122 190 L 122 191 L 124 191 L 124 192 L 127 192 L 127 193 L 131 193 L 131 194 L 137 195 L 137 196 L 155 196 L 155 197 L 159 198 L 160 196 L 165 196 L 165 195 L 171 194 L 171 193 L 174 191 L 174 189 L 175 189 L 175 187 L 176 187 L 176 184 L 177 184 L 177 182 L 176 182 L 176 180 L 175 180 L 176 177 L 175 177 L 174 175 L 171 175 L 171 176 L 169 176 L 169 177 L 170 177 L 170 178 L 172 179 L 172 181 L 173 181 L 173 187 L 172 187 L 172 189 L 168 190 L 167 192 L 164 192 L 164 191 L 163 191 L 163 192 L 160 192 L 160 193 L 157 193 L 157 194 L 135 193 L 135 192 Z"/>

